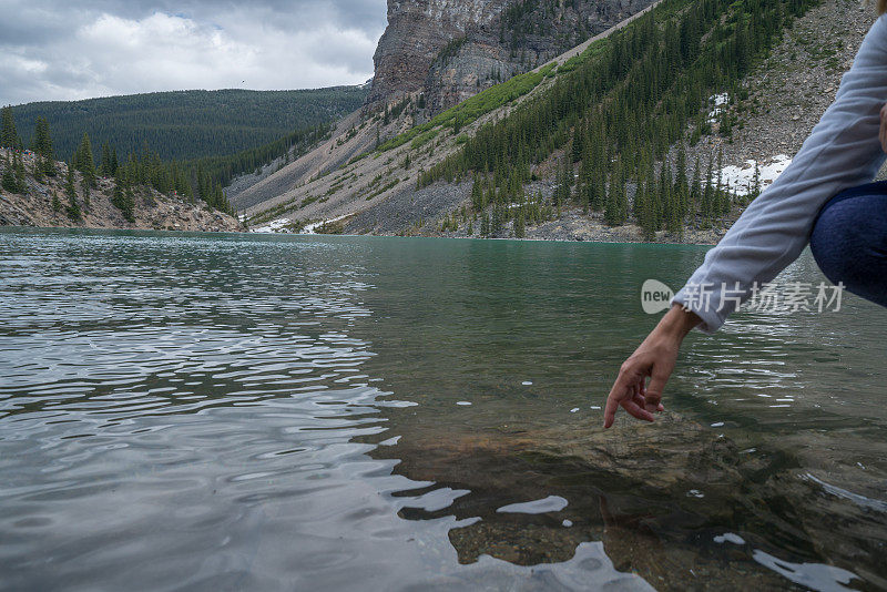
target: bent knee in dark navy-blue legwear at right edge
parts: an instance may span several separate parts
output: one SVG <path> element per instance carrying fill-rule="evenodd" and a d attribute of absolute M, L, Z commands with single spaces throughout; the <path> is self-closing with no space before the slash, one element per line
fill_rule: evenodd
<path fill-rule="evenodd" d="M 887 306 L 887 181 L 832 197 L 814 223 L 810 251 L 832 283 Z"/>

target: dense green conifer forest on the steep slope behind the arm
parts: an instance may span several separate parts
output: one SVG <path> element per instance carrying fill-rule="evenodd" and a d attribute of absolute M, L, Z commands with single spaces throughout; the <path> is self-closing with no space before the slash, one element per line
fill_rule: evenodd
<path fill-rule="evenodd" d="M 524 186 L 534 165 L 565 149 L 553 195 L 558 210 L 577 202 L 587 212 L 602 211 L 611 225 L 633 214 L 651 238 L 660 229 L 681 233 L 689 217 L 723 215 L 737 204 L 713 175 L 713 154 L 693 166 L 683 150 L 674 163 L 656 162 L 672 145 L 713 133 L 710 98 L 747 99 L 743 76 L 816 3 L 666 0 L 590 48 L 543 95 L 468 139 L 421 174 L 419 186 L 473 174 L 472 206 L 483 215 L 482 227 L 498 235 L 511 220 L 518 228 L 539 222 Z M 714 121 L 727 137 L 728 118 Z M 633 200 L 629 183 L 636 187 Z M 491 215 L 483 214 L 488 206 Z"/>

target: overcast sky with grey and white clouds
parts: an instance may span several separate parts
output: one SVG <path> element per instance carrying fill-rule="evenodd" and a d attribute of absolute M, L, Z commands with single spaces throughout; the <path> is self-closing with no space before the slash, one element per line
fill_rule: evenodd
<path fill-rule="evenodd" d="M 363 83 L 386 0 L 0 0 L 0 104 Z"/>

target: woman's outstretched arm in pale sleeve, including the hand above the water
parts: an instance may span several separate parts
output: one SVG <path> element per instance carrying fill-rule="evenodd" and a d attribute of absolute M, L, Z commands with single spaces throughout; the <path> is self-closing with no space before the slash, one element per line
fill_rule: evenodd
<path fill-rule="evenodd" d="M 714 333 L 736 308 L 734 300 L 718 306 L 723 290 L 736 296 L 738 286 L 747 297 L 755 282 L 776 277 L 809 242 L 823 204 L 847 187 L 871 181 L 887 153 L 885 101 L 887 16 L 871 27 L 835 102 L 788 169 L 707 253 L 705 263 L 675 295 L 672 308 L 622 365 L 606 400 L 605 428 L 613 425 L 620 406 L 638 419 L 653 421 L 653 412 L 662 410 L 662 390 L 684 337 L 696 327 Z M 692 296 L 701 286 L 711 295 L 710 306 Z"/>

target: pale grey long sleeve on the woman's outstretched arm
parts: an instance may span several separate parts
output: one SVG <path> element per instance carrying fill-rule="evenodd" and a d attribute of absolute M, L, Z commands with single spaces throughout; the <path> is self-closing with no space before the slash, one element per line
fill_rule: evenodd
<path fill-rule="evenodd" d="M 752 202 L 674 296 L 673 303 L 702 318 L 700 330 L 716 331 L 750 297 L 754 283 L 772 280 L 801 255 L 825 202 L 875 177 L 885 160 L 878 139 L 885 103 L 887 14 L 869 30 L 835 102 L 792 164 Z"/>

